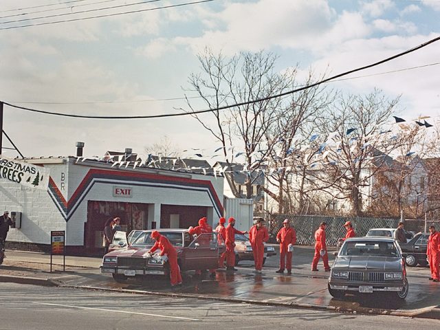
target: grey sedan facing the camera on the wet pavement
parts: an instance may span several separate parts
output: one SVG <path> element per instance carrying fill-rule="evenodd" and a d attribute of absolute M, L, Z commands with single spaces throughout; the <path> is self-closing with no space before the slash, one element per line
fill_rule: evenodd
<path fill-rule="evenodd" d="M 331 267 L 328 287 L 335 298 L 349 292 L 391 292 L 406 298 L 408 280 L 399 245 L 386 237 L 346 239 Z"/>

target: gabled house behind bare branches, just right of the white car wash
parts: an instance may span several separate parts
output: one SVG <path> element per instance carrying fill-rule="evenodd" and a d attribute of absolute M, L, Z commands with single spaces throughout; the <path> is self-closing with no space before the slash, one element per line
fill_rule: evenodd
<path fill-rule="evenodd" d="M 264 173 L 261 171 L 250 171 L 246 172 L 242 164 L 231 164 L 230 166 L 226 162 L 216 162 L 212 168 L 217 170 L 217 173 L 221 170 L 224 172 L 224 177 L 228 184 L 225 184 L 223 195 L 229 198 L 246 198 L 247 188 L 245 186 L 245 181 L 250 175 L 252 182 L 252 192 L 251 198 L 254 199 L 254 212 L 263 212 L 264 208 L 264 194 L 262 187 L 265 184 Z M 232 185 L 235 186 L 236 191 L 239 196 L 235 196 L 232 192 Z"/>

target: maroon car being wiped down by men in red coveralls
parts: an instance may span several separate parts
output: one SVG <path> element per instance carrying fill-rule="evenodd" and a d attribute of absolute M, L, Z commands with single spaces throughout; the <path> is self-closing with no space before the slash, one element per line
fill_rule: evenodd
<path fill-rule="evenodd" d="M 181 272 L 188 270 L 216 269 L 219 256 L 225 251 L 223 239 L 217 232 L 201 234 L 193 238 L 187 229 L 158 229 L 166 236 L 177 250 L 177 263 Z M 169 266 L 158 258 L 147 258 L 155 240 L 151 237 L 153 230 L 136 230 L 127 236 L 116 232 L 113 238 L 112 251 L 104 255 L 100 267 L 102 273 L 110 273 L 115 281 L 123 282 L 128 278 L 148 275 L 167 275 Z M 160 251 L 157 251 L 160 253 Z"/>

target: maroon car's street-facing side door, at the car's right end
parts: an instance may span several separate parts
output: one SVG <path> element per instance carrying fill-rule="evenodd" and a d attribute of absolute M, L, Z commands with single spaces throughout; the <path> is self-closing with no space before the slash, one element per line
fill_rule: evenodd
<path fill-rule="evenodd" d="M 210 270 L 219 267 L 217 232 L 200 234 L 185 250 L 185 270 Z"/>

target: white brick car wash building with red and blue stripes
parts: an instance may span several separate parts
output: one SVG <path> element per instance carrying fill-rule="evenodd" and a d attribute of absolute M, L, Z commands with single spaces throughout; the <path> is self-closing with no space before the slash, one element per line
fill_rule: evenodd
<path fill-rule="evenodd" d="M 8 233 L 12 248 L 47 250 L 51 231 L 64 230 L 67 254 L 99 254 L 111 217 L 120 217 L 130 232 L 188 228 L 201 217 L 212 225 L 223 214 L 223 177 L 81 157 L 4 159 L 49 173 L 28 169 L 19 183 L 12 170 L 0 179 L 0 208 L 21 219 Z"/>

